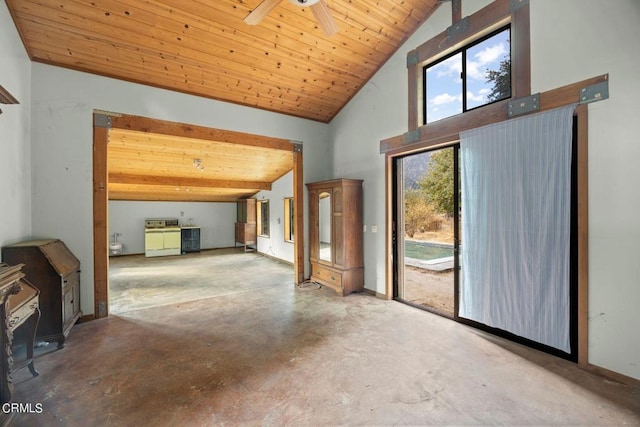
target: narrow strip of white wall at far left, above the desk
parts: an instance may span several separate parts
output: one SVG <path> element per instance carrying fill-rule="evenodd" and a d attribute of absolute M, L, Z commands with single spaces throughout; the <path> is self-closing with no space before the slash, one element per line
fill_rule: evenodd
<path fill-rule="evenodd" d="M 31 61 L 0 4 L 0 85 L 20 104 L 0 104 L 0 246 L 31 235 Z"/>

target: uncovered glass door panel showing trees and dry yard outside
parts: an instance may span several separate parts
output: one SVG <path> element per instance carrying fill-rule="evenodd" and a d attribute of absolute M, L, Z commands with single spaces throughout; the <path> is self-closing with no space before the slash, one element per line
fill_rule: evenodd
<path fill-rule="evenodd" d="M 394 165 L 394 296 L 447 317 L 457 316 L 457 156 L 456 145 L 398 158 Z"/>

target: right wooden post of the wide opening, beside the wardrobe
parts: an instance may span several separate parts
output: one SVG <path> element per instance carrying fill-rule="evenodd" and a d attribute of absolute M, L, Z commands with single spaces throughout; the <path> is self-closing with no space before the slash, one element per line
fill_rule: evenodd
<path fill-rule="evenodd" d="M 293 275 L 296 284 L 304 282 L 304 177 L 302 153 L 293 152 Z"/>

